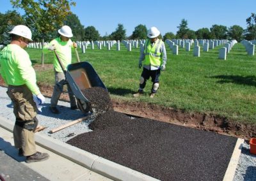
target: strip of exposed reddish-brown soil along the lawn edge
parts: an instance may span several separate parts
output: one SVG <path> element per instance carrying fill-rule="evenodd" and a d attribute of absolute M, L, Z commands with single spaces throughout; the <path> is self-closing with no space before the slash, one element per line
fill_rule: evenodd
<path fill-rule="evenodd" d="M 0 85 L 6 87 L 1 76 Z M 53 85 L 44 85 L 38 82 L 38 86 L 44 96 L 52 96 Z M 60 99 L 62 101 L 69 101 L 68 94 L 61 94 Z M 141 102 L 125 102 L 117 99 L 111 99 L 111 102 L 113 110 L 120 113 L 236 136 L 237 138 L 243 138 L 245 140 L 256 137 L 256 126 L 243 124 L 241 122 L 232 122 L 225 117 L 207 115 L 204 113 L 186 113 L 182 112 L 182 110 Z"/>

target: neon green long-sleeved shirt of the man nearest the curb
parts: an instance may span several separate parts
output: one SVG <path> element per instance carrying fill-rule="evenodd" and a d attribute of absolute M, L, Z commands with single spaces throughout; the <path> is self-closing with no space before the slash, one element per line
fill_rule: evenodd
<path fill-rule="evenodd" d="M 8 85 L 24 85 L 35 95 L 40 94 L 36 73 L 28 53 L 19 45 L 10 44 L 0 52 L 0 73 Z"/>

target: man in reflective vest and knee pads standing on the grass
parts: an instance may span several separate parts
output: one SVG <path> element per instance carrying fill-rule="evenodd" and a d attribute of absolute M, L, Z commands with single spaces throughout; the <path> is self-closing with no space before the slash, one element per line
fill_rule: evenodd
<path fill-rule="evenodd" d="M 167 61 L 164 42 L 157 38 L 159 34 L 160 31 L 156 27 L 150 27 L 148 30 L 147 36 L 149 39 L 146 41 L 143 50 L 141 50 L 139 59 L 139 68 L 142 67 L 142 61 L 145 60 L 140 77 L 140 88 L 136 94 L 133 94 L 134 98 L 143 94 L 143 89 L 150 77 L 153 82 L 150 98 L 154 98 L 157 89 L 159 88 L 159 76 L 161 70 L 165 70 Z"/>

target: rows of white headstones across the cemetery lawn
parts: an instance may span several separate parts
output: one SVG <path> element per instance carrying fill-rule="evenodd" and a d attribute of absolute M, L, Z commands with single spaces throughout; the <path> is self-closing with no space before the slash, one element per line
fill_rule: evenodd
<path fill-rule="evenodd" d="M 140 48 L 142 49 L 146 40 L 123 40 L 121 43 L 127 48 L 127 51 L 132 51 L 132 47 L 138 48 L 140 45 Z M 218 47 L 219 45 L 223 45 L 219 49 L 219 59 L 226 60 L 227 54 L 230 52 L 232 47 L 237 43 L 236 40 L 166 40 L 166 44 L 170 47 L 172 50 L 172 53 L 174 55 L 179 54 L 179 47 L 185 48 L 186 51 L 191 50 L 191 46 L 194 43 L 193 48 L 193 55 L 195 57 L 200 57 L 200 45 L 203 47 L 204 52 L 209 52 L 209 49 L 214 49 L 214 47 Z M 77 46 L 81 48 L 82 53 L 84 54 L 86 52 L 86 49 L 88 49 L 88 46 L 92 49 L 95 48 L 94 45 L 96 45 L 100 50 L 103 47 L 106 47 L 107 50 L 111 50 L 113 45 L 116 45 L 116 50 L 120 51 L 120 41 L 77 41 Z M 244 47 L 246 48 L 246 51 L 248 52 L 248 55 L 254 55 L 256 40 L 253 41 L 241 41 L 243 43 Z M 49 43 L 45 43 L 44 45 L 47 45 Z M 28 48 L 40 48 L 42 49 L 42 43 L 29 43 Z"/>

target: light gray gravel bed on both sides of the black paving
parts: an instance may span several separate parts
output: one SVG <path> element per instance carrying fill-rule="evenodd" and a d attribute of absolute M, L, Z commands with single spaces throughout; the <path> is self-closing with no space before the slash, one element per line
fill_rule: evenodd
<path fill-rule="evenodd" d="M 8 98 L 6 91 L 7 89 L 5 87 L 0 87 L 0 116 L 15 122 L 12 101 Z M 70 110 L 70 103 L 65 101 L 59 101 L 58 108 L 61 113 L 54 115 L 49 111 L 50 101 L 51 99 L 46 98 L 42 112 L 37 115 L 39 124 L 47 127 L 47 129 L 44 129 L 41 133 L 45 133 L 52 138 L 66 142 L 78 134 L 92 131 L 88 128 L 88 125 L 92 122 L 93 118 L 66 127 L 65 129 L 61 129 L 56 133 L 49 133 L 49 131 L 56 127 L 63 126 L 68 122 L 85 116 L 80 110 Z M 250 154 L 250 145 L 247 141 L 244 141 L 243 143 L 239 164 L 237 164 L 236 168 L 234 181 L 238 180 L 256 180 L 256 156 Z"/>

